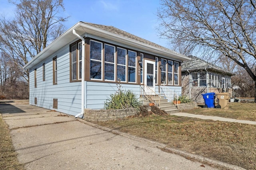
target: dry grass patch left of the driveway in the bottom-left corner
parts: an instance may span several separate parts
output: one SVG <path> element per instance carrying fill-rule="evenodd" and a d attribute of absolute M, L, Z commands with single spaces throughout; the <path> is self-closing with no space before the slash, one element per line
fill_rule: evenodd
<path fill-rule="evenodd" d="M 24 170 L 24 166 L 18 162 L 17 154 L 12 145 L 12 139 L 8 126 L 0 115 L 0 169 Z"/>

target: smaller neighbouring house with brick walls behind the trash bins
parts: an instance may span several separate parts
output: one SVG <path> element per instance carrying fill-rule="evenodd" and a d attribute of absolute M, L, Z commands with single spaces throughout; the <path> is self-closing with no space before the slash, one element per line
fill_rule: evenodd
<path fill-rule="evenodd" d="M 190 56 L 190 61 L 182 63 L 182 94 L 198 103 L 204 103 L 201 94 L 209 92 L 230 92 L 231 72 L 208 63 L 198 57 Z"/>

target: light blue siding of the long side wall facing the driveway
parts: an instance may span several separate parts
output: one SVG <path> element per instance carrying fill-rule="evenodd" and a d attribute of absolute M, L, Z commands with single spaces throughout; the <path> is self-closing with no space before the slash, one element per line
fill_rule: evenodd
<path fill-rule="evenodd" d="M 53 64 L 52 59 L 57 56 L 57 78 L 58 83 L 53 85 Z M 42 79 L 42 63 L 45 63 L 45 81 Z M 53 99 L 58 99 L 58 109 L 62 113 L 76 115 L 81 112 L 81 82 L 70 83 L 69 45 L 66 45 L 49 56 L 46 61 L 38 64 L 37 88 L 34 88 L 34 69 L 30 69 L 30 104 L 34 105 L 34 98 L 37 98 L 37 105 L 46 109 L 53 109 Z"/>

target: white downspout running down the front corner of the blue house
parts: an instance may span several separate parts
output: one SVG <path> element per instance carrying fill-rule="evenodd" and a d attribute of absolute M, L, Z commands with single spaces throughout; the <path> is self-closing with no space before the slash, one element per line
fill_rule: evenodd
<path fill-rule="evenodd" d="M 84 117 L 84 53 L 85 53 L 85 39 L 78 35 L 78 33 L 76 33 L 76 30 L 73 29 L 73 34 L 76 35 L 76 37 L 78 37 L 79 39 L 82 40 L 82 89 L 81 89 L 81 113 L 78 113 L 75 118 L 78 118 L 79 116 L 82 115 L 82 117 Z"/>

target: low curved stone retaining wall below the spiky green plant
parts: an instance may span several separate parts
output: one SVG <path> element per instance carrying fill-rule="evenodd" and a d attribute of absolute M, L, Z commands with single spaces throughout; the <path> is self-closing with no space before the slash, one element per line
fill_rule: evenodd
<path fill-rule="evenodd" d="M 138 112 L 136 109 L 115 109 L 115 110 L 104 110 L 104 109 L 84 109 L 84 119 L 86 121 L 98 122 L 115 120 L 124 118 L 132 115 L 136 115 Z"/>

